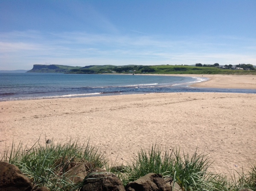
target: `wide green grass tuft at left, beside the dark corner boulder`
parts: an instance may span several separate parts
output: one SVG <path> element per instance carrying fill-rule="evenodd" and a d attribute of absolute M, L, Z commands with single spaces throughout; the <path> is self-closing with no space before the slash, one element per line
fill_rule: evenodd
<path fill-rule="evenodd" d="M 66 178 L 67 171 L 79 162 L 86 164 L 87 171 L 95 167 L 104 168 L 108 162 L 98 148 L 89 144 L 89 140 L 82 145 L 78 139 L 70 139 L 64 144 L 51 142 L 40 145 L 38 139 L 32 148 L 26 148 L 23 149 L 22 143 L 17 148 L 12 144 L 2 161 L 16 165 L 36 187 L 46 186 L 54 191 L 72 191 L 81 187 Z"/>

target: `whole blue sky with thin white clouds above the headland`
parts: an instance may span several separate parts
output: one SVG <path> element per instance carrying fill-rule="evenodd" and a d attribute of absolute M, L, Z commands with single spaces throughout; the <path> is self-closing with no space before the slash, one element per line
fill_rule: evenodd
<path fill-rule="evenodd" d="M 256 65 L 256 0 L 1 0 L 0 70 Z"/>

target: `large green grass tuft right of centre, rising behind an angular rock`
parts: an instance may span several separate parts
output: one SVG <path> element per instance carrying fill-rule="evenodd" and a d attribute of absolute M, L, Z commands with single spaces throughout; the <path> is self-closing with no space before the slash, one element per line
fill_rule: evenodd
<path fill-rule="evenodd" d="M 150 150 L 141 149 L 125 167 L 124 171 L 115 172 L 124 185 L 148 173 L 172 177 L 175 184 L 180 185 L 183 191 L 226 191 L 230 189 L 226 177 L 219 174 L 210 174 L 207 169 L 212 164 L 204 153 L 192 156 L 180 154 L 180 149 L 161 149 L 152 145 Z"/>

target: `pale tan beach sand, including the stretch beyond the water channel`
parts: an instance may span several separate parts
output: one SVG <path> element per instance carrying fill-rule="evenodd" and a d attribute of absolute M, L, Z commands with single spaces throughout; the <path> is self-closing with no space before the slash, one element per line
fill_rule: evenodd
<path fill-rule="evenodd" d="M 200 75 L 201 76 L 201 75 Z M 256 76 L 215 75 L 201 87 L 256 89 Z M 221 79 L 221 80 L 220 80 Z M 223 81 L 227 83 L 222 83 Z M 154 93 L 0 102 L 0 156 L 20 141 L 79 138 L 127 162 L 157 144 L 208 154 L 210 171 L 228 175 L 255 162 L 256 94 Z M 234 166 L 234 165 L 237 165 Z"/>

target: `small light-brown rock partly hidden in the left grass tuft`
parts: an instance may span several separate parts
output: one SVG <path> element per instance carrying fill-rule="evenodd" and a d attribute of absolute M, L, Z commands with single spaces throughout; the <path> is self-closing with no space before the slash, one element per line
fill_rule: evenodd
<path fill-rule="evenodd" d="M 65 177 L 70 179 L 73 183 L 83 182 L 87 176 L 87 168 L 84 163 L 79 162 L 74 168 L 71 168 L 65 174 Z"/>

